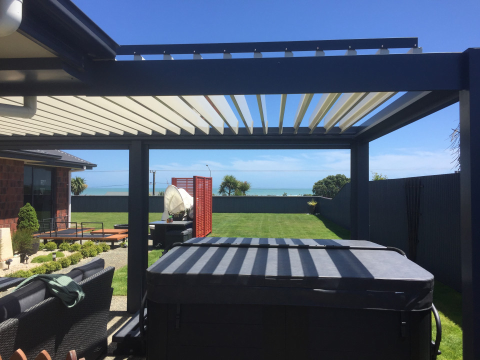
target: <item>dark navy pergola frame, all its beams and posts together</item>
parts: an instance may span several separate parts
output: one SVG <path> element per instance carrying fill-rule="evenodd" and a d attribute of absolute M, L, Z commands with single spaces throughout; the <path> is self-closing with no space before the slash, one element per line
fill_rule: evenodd
<path fill-rule="evenodd" d="M 166 135 L 0 136 L 2 149 L 88 148 L 129 150 L 128 310 L 145 289 L 148 223 L 148 151 L 161 148 L 349 148 L 351 238 L 368 239 L 368 143 L 460 102 L 460 217 L 463 356 L 480 358 L 480 49 L 458 53 L 198 60 L 114 61 L 116 54 L 307 51 L 416 47 L 417 38 L 263 43 L 119 46 L 68 1 L 25 1 L 19 32 L 57 58 L 0 59 L 0 96 L 212 95 L 410 91 L 361 126 L 343 134 L 270 128 L 252 135 L 167 132 Z M 60 20 L 61 21 L 60 21 Z M 66 26 L 65 24 L 69 24 Z M 88 51 L 87 51 L 88 50 Z M 12 74 L 22 80 L 10 81 Z M 415 91 L 431 91 L 412 103 Z M 389 114 L 392 108 L 404 106 Z"/>

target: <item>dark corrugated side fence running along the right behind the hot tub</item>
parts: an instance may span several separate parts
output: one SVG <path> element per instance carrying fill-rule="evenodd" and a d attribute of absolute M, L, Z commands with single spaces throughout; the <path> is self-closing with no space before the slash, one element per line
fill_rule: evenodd
<path fill-rule="evenodd" d="M 350 228 L 350 187 L 320 198 L 320 213 Z M 461 289 L 458 173 L 369 182 L 370 241 L 401 248 L 436 279 Z M 410 237 L 410 241 L 409 241 Z M 410 243 L 410 246 L 409 246 Z"/>

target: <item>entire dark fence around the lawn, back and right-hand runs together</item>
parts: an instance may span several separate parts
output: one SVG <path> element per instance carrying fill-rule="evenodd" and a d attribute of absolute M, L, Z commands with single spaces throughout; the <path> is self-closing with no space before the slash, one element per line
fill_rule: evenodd
<path fill-rule="evenodd" d="M 409 186 L 418 183 L 418 188 L 405 187 L 408 182 Z M 411 258 L 410 235 L 416 243 L 416 262 L 439 281 L 460 290 L 459 174 L 370 181 L 369 194 L 370 241 L 401 248 Z M 311 198 L 318 201 L 317 212 L 350 228 L 349 183 L 333 199 L 319 196 L 213 196 L 212 207 L 213 212 L 306 213 L 306 202 Z M 72 196 L 71 211 L 127 212 L 128 196 Z M 162 212 L 163 196 L 150 196 L 148 211 Z"/>

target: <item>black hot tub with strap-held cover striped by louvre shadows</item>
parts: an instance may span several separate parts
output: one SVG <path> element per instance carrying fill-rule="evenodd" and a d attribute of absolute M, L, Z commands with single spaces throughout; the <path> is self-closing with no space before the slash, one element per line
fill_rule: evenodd
<path fill-rule="evenodd" d="M 369 241 L 193 238 L 147 269 L 147 358 L 427 360 L 432 291 Z"/>

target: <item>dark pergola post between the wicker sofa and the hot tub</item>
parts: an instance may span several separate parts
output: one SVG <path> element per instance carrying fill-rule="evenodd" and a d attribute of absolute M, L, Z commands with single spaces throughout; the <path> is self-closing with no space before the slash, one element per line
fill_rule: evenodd
<path fill-rule="evenodd" d="M 128 174 L 127 311 L 140 308 L 145 292 L 148 258 L 148 145 L 140 140 L 129 146 Z"/>

